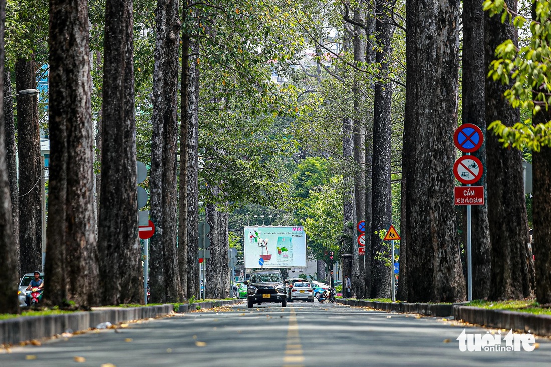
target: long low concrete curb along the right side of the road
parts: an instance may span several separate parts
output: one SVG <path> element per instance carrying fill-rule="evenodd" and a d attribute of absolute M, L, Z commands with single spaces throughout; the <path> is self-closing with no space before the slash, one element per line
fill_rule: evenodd
<path fill-rule="evenodd" d="M 362 300 L 338 299 L 337 303 L 355 306 L 370 307 L 375 310 L 395 311 L 403 314 L 419 314 L 434 317 L 451 317 L 485 327 L 505 330 L 514 330 L 523 333 L 551 336 L 551 316 L 533 315 L 524 312 L 487 310 L 478 307 L 456 304 L 426 304 L 426 303 L 385 303 Z"/>

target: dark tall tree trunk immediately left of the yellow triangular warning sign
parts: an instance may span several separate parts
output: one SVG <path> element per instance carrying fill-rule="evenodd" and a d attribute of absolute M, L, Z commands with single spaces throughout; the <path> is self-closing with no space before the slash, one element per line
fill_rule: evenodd
<path fill-rule="evenodd" d="M 391 22 L 392 8 L 387 2 L 377 2 L 375 34 L 377 37 L 376 61 L 379 64 L 380 79 L 375 82 L 373 119 L 373 165 L 372 165 L 372 229 L 371 236 L 371 298 L 390 298 L 393 276 L 385 261 L 377 253 L 388 252 L 375 231 L 390 227 L 392 219 L 391 171 L 391 102 L 392 84 L 388 80 L 388 62 L 391 53 L 391 37 L 394 26 Z M 379 258 L 377 260 L 377 258 Z M 393 263 L 393 261 L 392 261 Z M 391 277 L 392 276 L 392 277 Z"/>

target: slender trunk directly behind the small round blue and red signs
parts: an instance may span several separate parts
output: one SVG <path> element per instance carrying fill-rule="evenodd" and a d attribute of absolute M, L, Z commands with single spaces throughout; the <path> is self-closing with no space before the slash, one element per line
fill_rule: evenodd
<path fill-rule="evenodd" d="M 364 21 L 363 10 L 354 11 L 354 20 L 356 22 Z M 354 62 L 365 62 L 365 31 L 359 25 L 354 25 L 354 36 L 352 37 L 352 45 L 354 48 Z M 360 108 L 365 100 L 363 94 L 360 91 L 359 81 L 355 80 L 352 87 L 353 95 L 353 108 L 354 116 L 353 120 L 353 144 L 354 144 L 354 162 L 356 164 L 356 170 L 354 172 L 354 204 L 355 223 L 360 220 L 365 220 L 365 121 L 361 114 Z M 356 237 L 359 235 L 355 231 Z M 355 289 L 356 298 L 364 298 L 365 295 L 365 256 L 358 256 L 357 242 L 353 244 L 353 259 L 354 259 L 354 271 L 352 275 L 352 287 Z M 358 273 L 354 274 L 355 270 Z"/>

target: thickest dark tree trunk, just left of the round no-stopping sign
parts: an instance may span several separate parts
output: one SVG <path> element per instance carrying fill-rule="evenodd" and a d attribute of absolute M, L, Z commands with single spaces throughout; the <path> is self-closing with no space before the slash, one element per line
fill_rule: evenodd
<path fill-rule="evenodd" d="M 414 75 L 407 73 L 406 104 L 417 104 L 414 110 L 406 107 L 404 122 L 404 137 L 408 140 L 404 148 L 409 149 L 404 150 L 408 155 L 408 301 L 455 302 L 466 298 L 457 247 L 452 174 L 459 2 L 407 0 L 406 8 L 407 56 L 413 57 L 408 58 L 408 64 L 412 62 L 414 67 L 407 69 Z M 410 93 L 414 99 L 408 98 Z"/>

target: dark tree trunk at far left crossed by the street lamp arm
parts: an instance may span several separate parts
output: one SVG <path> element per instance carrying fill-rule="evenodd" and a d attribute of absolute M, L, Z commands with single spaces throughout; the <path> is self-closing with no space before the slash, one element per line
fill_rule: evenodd
<path fill-rule="evenodd" d="M 15 62 L 17 90 L 36 88 L 33 60 Z M 40 204 L 40 131 L 36 96 L 17 96 L 17 145 L 19 161 L 19 261 L 21 273 L 42 265 Z"/>

